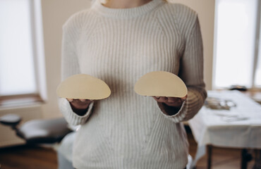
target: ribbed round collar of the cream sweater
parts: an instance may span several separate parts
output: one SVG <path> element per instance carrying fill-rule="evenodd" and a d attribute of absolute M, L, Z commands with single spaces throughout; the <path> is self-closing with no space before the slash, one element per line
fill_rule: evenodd
<path fill-rule="evenodd" d="M 92 8 L 102 15 L 111 18 L 135 18 L 152 11 L 154 8 L 161 6 L 164 3 L 163 0 L 152 0 L 147 4 L 134 8 L 109 8 L 101 4 L 99 0 L 96 0 L 95 4 L 92 5 Z"/>

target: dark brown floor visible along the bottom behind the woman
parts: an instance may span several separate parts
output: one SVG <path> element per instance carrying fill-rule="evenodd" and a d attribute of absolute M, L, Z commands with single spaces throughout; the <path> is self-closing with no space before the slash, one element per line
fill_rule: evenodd
<path fill-rule="evenodd" d="M 195 156 L 197 144 L 188 130 L 190 154 Z M 16 146 L 0 149 L 1 169 L 56 169 L 56 152 L 51 148 L 40 146 Z M 248 163 L 252 169 L 253 160 Z M 197 169 L 207 168 L 207 156 L 198 161 Z M 212 150 L 212 169 L 241 168 L 241 149 L 223 149 L 214 147 Z"/>

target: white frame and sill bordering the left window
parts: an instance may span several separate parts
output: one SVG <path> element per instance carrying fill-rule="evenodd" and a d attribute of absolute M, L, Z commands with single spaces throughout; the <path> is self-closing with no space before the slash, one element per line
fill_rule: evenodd
<path fill-rule="evenodd" d="M 32 35 L 32 61 L 35 70 L 36 91 L 26 94 L 0 95 L 0 108 L 43 104 L 47 100 L 42 27 L 42 0 L 28 0 Z"/>

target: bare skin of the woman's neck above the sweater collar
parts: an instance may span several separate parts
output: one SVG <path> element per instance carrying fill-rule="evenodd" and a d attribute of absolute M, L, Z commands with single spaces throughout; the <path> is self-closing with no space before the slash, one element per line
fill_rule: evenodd
<path fill-rule="evenodd" d="M 109 8 L 134 8 L 147 4 L 152 0 L 107 0 L 104 6 Z"/>

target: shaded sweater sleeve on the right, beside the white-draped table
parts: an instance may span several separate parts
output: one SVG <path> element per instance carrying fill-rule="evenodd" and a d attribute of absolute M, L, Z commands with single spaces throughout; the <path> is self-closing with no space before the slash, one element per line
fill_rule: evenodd
<path fill-rule="evenodd" d="M 189 33 L 185 36 L 185 49 L 181 56 L 179 77 L 188 88 L 188 98 L 183 101 L 180 109 L 158 103 L 162 113 L 180 123 L 189 120 L 198 113 L 207 97 L 205 82 L 203 81 L 203 47 L 198 15 Z"/>

